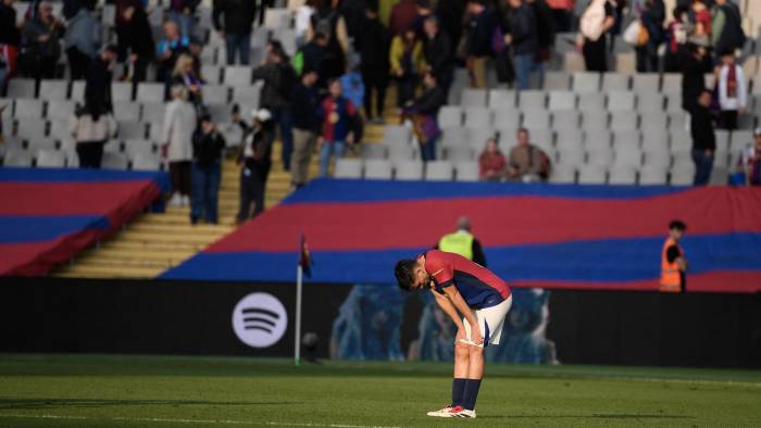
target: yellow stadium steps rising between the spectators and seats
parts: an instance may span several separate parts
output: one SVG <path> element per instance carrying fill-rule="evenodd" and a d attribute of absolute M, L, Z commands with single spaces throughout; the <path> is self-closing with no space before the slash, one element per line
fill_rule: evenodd
<path fill-rule="evenodd" d="M 390 92 L 390 91 L 389 91 Z M 387 97 L 391 100 L 390 93 Z M 392 105 L 386 110 L 387 123 L 398 123 Z M 365 126 L 365 143 L 383 140 L 383 126 Z M 283 169 L 280 144 L 273 150 L 273 168 L 267 180 L 266 209 L 282 201 L 290 191 L 290 174 Z M 124 228 L 86 250 L 71 263 L 57 267 L 51 275 L 76 278 L 154 278 L 178 265 L 210 243 L 235 229 L 238 212 L 239 167 L 227 159 L 222 168 L 220 224 L 190 225 L 190 210 L 169 206 L 165 213 L 145 213 Z M 312 158 L 310 177 L 317 175 L 317 156 Z"/>

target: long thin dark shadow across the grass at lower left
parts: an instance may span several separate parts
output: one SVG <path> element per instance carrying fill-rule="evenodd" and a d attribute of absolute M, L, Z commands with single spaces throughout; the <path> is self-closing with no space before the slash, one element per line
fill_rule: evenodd
<path fill-rule="evenodd" d="M 166 406 L 250 406 L 250 405 L 290 405 L 295 401 L 203 401 L 203 400 L 88 400 L 88 399 L 1 399 L 0 410 L 40 410 L 61 407 L 108 407 L 133 405 Z"/>

